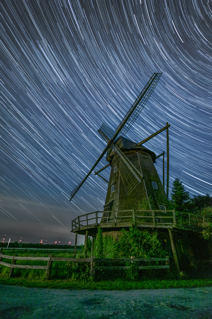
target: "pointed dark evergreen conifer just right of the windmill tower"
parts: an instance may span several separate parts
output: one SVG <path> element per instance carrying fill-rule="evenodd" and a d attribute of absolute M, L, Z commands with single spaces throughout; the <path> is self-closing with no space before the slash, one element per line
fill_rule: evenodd
<path fill-rule="evenodd" d="M 176 211 L 187 211 L 190 203 L 189 192 L 185 190 L 185 186 L 179 178 L 175 178 L 171 193 L 171 203 Z"/>

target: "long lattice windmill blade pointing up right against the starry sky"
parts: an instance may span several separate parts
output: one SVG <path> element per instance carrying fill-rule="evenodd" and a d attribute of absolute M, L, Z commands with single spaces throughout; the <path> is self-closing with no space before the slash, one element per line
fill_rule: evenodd
<path fill-rule="evenodd" d="M 155 86 L 157 85 L 162 73 L 154 73 L 153 76 L 148 81 L 147 85 L 144 87 L 138 98 L 133 103 L 132 107 L 129 109 L 125 117 L 123 118 L 120 125 L 117 127 L 116 132 L 124 136 L 130 127 L 135 122 L 140 111 L 143 109 L 147 103 L 150 95 L 154 91 Z"/>

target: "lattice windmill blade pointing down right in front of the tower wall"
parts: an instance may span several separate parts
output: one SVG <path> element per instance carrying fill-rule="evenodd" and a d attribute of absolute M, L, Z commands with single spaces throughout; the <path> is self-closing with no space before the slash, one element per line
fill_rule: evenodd
<path fill-rule="evenodd" d="M 115 146 L 115 153 L 113 156 L 113 162 L 117 166 L 123 181 L 127 195 L 142 182 L 143 175 L 139 170 L 131 163 L 127 156 L 120 150 L 118 146 Z"/>

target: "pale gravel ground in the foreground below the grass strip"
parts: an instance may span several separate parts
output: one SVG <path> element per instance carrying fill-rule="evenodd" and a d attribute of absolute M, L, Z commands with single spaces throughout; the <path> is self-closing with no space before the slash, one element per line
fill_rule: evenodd
<path fill-rule="evenodd" d="M 0 285 L 0 318 L 212 319 L 212 287 L 127 291 Z"/>

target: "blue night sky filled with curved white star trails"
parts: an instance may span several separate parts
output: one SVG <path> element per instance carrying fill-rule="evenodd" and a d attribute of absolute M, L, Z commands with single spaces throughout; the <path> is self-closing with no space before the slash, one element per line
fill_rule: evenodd
<path fill-rule="evenodd" d="M 125 137 L 168 122 L 169 197 L 176 177 L 191 197 L 212 195 L 211 28 L 211 0 L 0 2 L 1 241 L 74 245 L 72 219 L 105 204 L 93 173 L 69 201 L 106 146 L 97 130 L 116 129 L 154 72 Z M 144 146 L 166 152 L 166 131 Z M 162 157 L 155 167 L 162 179 Z"/>

